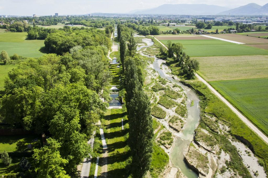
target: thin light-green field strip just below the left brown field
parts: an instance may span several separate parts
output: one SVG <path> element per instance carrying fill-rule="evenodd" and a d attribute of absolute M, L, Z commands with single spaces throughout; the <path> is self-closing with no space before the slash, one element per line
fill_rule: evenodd
<path fill-rule="evenodd" d="M 209 45 L 209 44 L 232 44 L 227 41 L 222 41 L 218 39 L 195 39 L 195 37 L 191 37 L 192 39 L 187 40 L 187 39 L 173 39 L 171 40 L 173 43 L 182 43 L 183 45 Z M 161 39 L 160 40 L 163 44 L 167 44 L 168 40 L 167 39 Z"/>

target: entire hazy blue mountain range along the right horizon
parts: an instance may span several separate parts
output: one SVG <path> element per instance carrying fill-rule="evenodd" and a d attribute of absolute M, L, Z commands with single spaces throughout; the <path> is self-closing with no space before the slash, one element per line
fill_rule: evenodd
<path fill-rule="evenodd" d="M 159 15 L 266 15 L 268 14 L 268 3 L 264 6 L 250 3 L 235 9 L 207 4 L 164 4 L 152 9 L 133 10 L 129 13 Z"/>

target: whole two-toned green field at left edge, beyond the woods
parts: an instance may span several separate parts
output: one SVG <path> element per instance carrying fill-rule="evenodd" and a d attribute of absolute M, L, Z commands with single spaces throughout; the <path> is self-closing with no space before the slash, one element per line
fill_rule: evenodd
<path fill-rule="evenodd" d="M 25 40 L 27 33 L 0 33 L 0 51 L 5 50 L 9 56 L 14 53 L 23 57 L 40 57 L 44 55 L 44 40 Z"/>

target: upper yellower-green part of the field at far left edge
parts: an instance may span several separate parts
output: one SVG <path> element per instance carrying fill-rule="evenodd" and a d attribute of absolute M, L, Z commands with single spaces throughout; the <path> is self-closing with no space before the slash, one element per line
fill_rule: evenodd
<path fill-rule="evenodd" d="M 0 33 L 0 42 L 23 42 L 27 38 L 27 32 Z"/>

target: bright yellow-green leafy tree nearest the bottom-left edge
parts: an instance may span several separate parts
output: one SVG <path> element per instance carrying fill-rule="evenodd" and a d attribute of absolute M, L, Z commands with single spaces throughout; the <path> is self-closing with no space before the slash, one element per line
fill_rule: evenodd
<path fill-rule="evenodd" d="M 59 154 L 60 144 L 54 139 L 47 139 L 47 145 L 40 149 L 35 149 L 33 158 L 40 163 L 38 178 L 70 178 L 63 170 L 63 166 L 68 163 Z"/>

